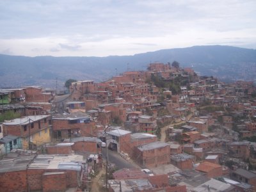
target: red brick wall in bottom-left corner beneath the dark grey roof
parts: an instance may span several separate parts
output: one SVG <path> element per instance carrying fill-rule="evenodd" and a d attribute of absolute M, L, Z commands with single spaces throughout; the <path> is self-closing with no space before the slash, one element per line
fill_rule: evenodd
<path fill-rule="evenodd" d="M 26 170 L 0 173 L 0 192 L 28 191 Z"/>

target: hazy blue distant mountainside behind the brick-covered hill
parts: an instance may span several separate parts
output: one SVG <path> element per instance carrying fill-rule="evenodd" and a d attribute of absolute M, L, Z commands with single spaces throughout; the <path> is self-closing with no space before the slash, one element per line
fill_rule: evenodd
<path fill-rule="evenodd" d="M 155 61 L 179 61 L 200 75 L 222 81 L 256 81 L 256 50 L 211 45 L 182 49 L 164 49 L 134 56 L 52 57 L 8 56 L 0 54 L 0 87 L 42 85 L 62 87 L 67 79 L 102 81 L 125 70 L 146 70 Z"/>

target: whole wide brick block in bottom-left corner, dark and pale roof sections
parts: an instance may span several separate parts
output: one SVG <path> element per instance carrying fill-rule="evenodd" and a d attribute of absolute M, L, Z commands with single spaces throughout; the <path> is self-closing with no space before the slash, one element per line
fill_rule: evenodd
<path fill-rule="evenodd" d="M 81 190 L 86 180 L 85 163 L 83 156 L 37 156 L 34 151 L 13 150 L 0 161 L 0 191 Z"/>

